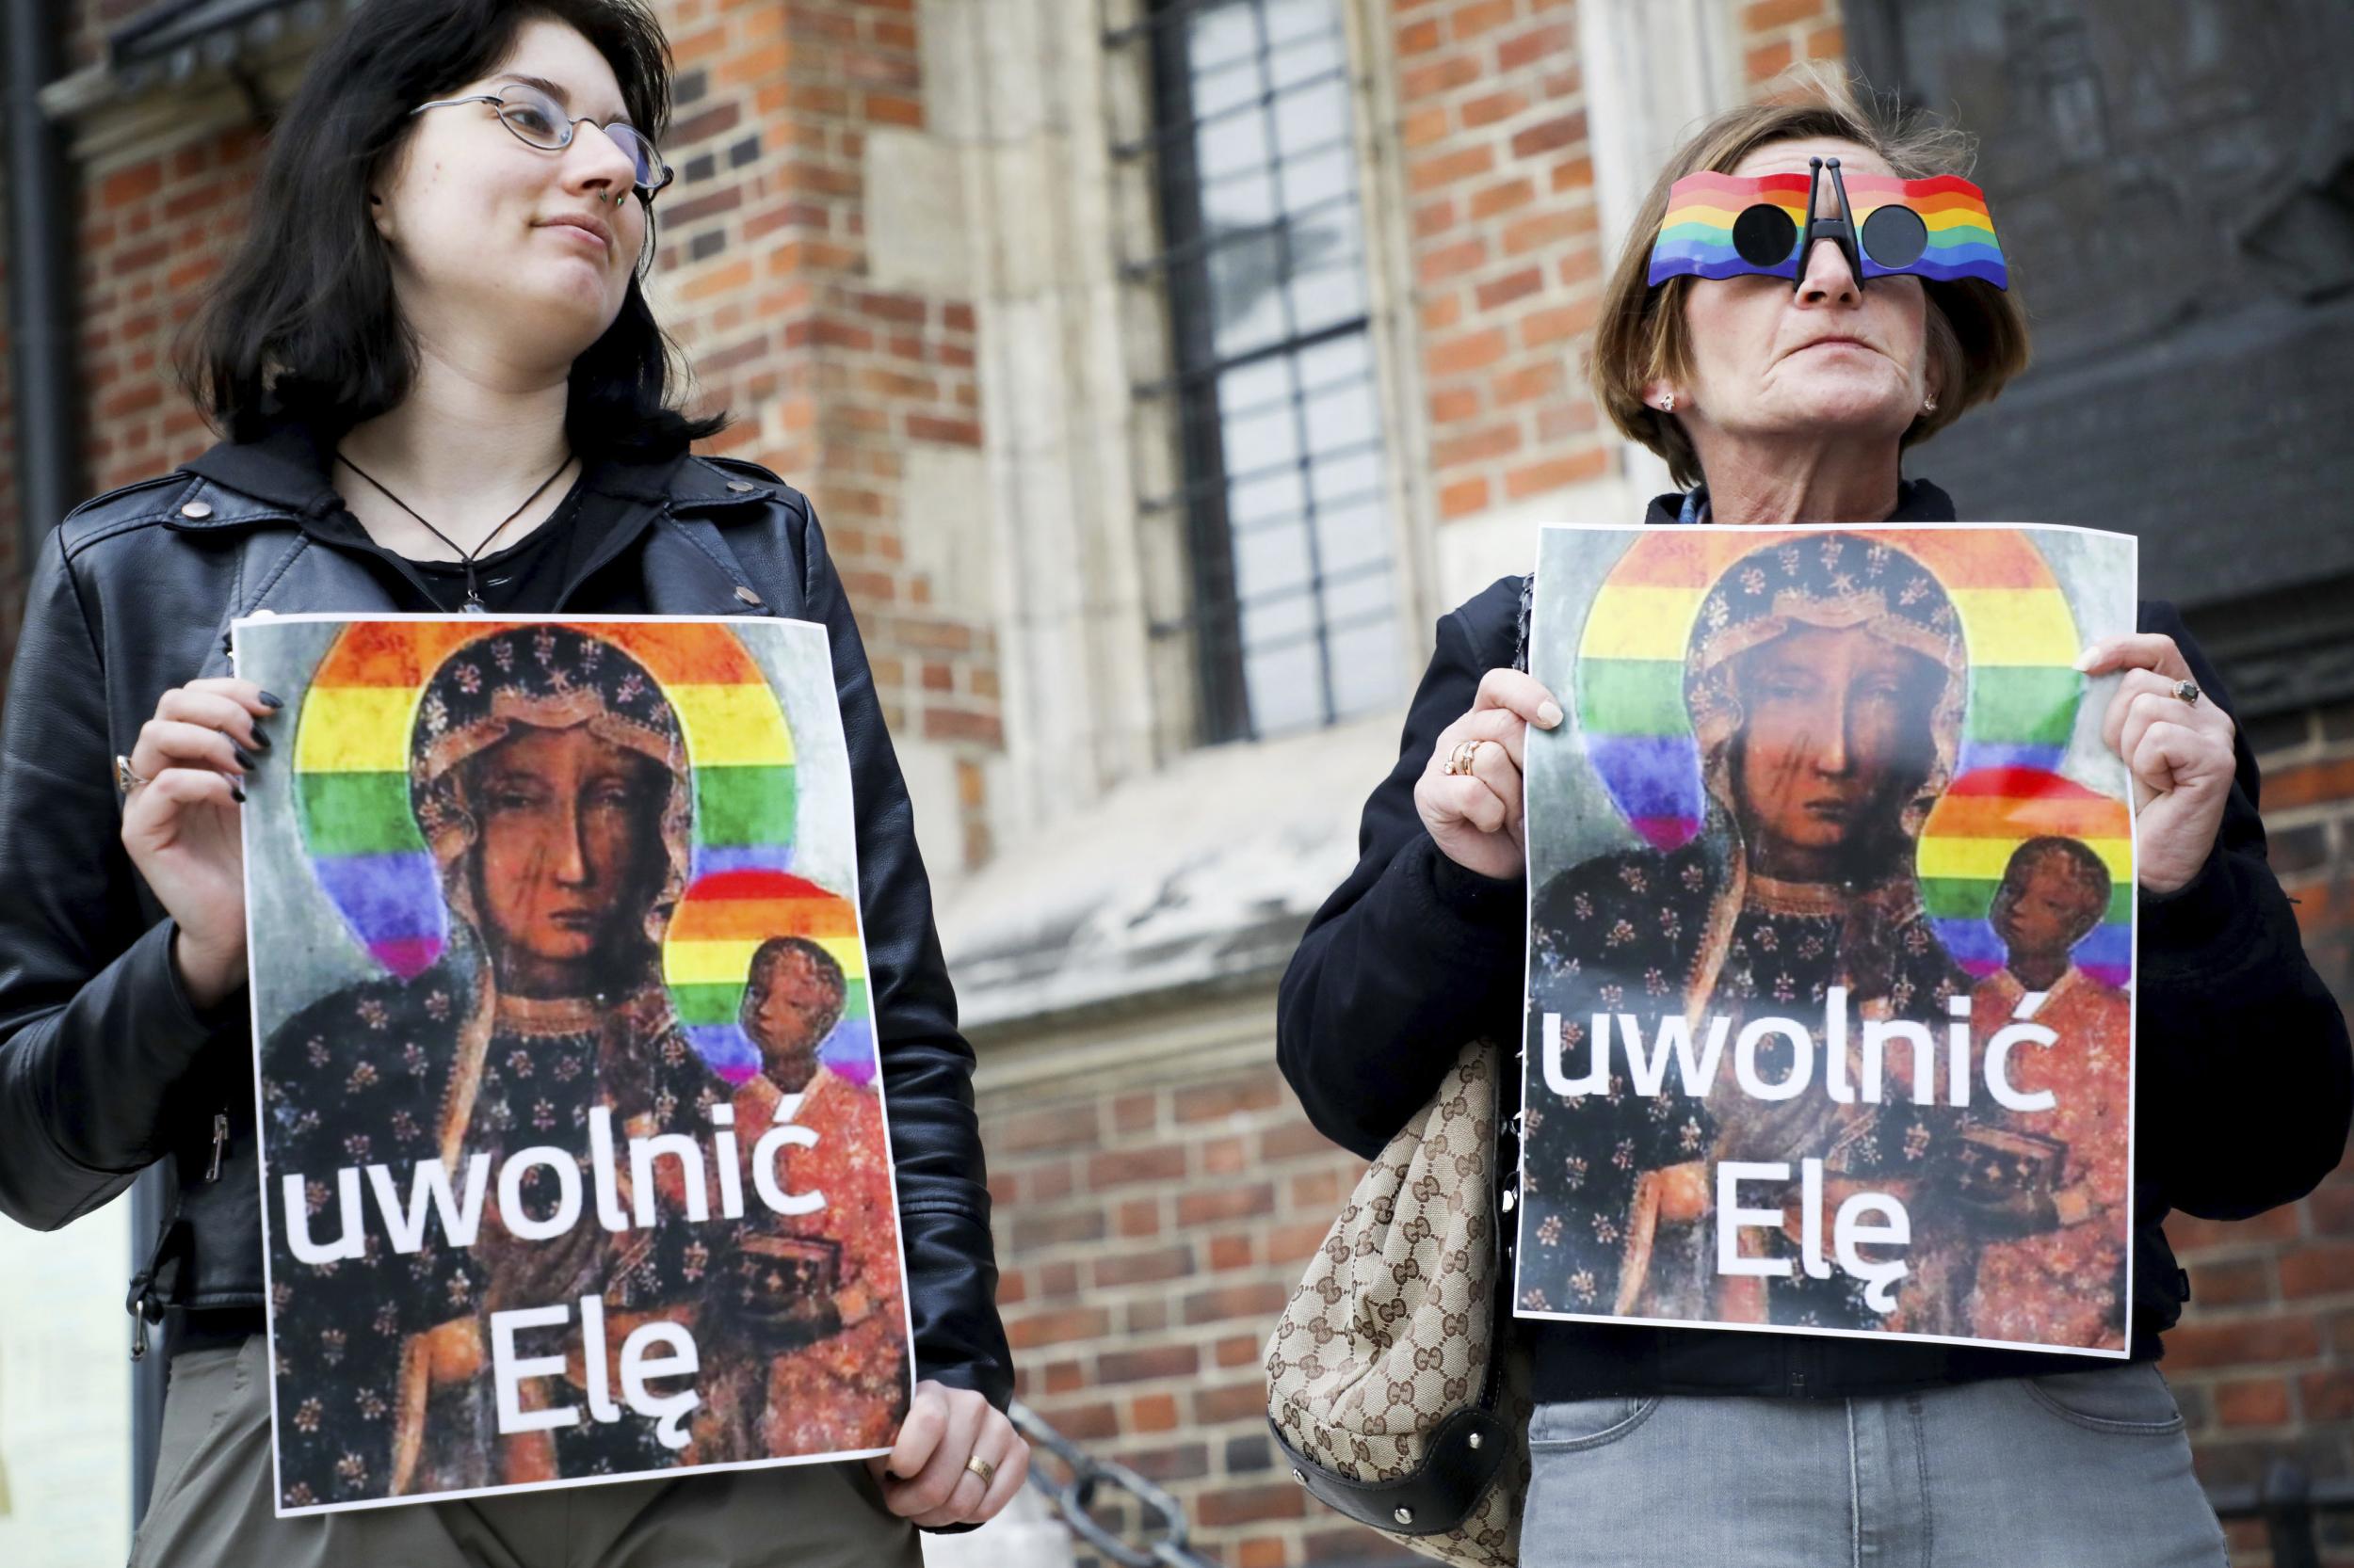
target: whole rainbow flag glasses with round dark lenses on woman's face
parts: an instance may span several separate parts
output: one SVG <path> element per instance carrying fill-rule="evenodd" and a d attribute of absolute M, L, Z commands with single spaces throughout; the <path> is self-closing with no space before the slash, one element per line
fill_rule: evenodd
<path fill-rule="evenodd" d="M 1808 174 L 1685 174 L 1667 193 L 1667 221 L 1650 247 L 1650 280 L 1758 273 L 1798 285 L 1798 235 L 1831 240 L 1857 283 L 1911 273 L 1935 283 L 1977 278 L 2010 287 L 1994 240 L 1987 193 L 1968 179 L 1841 174 L 1838 160 L 1808 158 Z M 1834 207 L 1820 205 L 1831 172 Z M 1853 202 L 1853 205 L 1850 205 Z"/>

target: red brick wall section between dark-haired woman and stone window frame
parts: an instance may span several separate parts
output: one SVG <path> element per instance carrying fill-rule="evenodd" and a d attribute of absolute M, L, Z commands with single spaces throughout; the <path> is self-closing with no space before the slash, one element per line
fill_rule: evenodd
<path fill-rule="evenodd" d="M 923 129 L 913 0 L 671 0 L 680 111 L 664 155 L 664 323 L 713 445 L 810 492 L 892 730 L 958 753 L 963 852 L 989 855 L 982 758 L 1003 749 L 993 629 L 935 603 L 902 516 L 913 447 L 979 447 L 963 297 L 869 283 L 866 134 Z"/>

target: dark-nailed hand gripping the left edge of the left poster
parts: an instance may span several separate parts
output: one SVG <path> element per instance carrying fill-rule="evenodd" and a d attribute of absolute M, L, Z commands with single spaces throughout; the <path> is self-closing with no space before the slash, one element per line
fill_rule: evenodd
<path fill-rule="evenodd" d="M 240 779 L 268 751 L 261 720 L 282 704 L 252 680 L 191 680 L 155 702 L 129 763 L 146 784 L 122 803 L 122 848 L 179 921 L 172 961 L 188 1001 L 212 1008 L 245 984 Z"/>

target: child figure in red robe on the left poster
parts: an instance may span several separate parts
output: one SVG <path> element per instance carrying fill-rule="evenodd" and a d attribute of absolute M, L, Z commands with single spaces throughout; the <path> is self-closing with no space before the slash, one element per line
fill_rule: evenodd
<path fill-rule="evenodd" d="M 737 1147 L 753 1149 L 779 1121 L 810 1132 L 786 1147 L 782 1184 L 824 1196 L 805 1215 L 777 1215 L 772 1238 L 744 1243 L 746 1276 L 779 1267 L 812 1278 L 824 1297 L 807 1344 L 763 1366 L 737 1391 L 737 1420 L 763 1453 L 887 1448 L 906 1415 L 899 1229 L 892 1210 L 883 1099 L 873 1078 L 829 1067 L 819 1048 L 850 1001 L 843 965 L 810 937 L 772 937 L 751 958 L 742 1026 L 760 1048 L 760 1071 L 734 1092 Z"/>

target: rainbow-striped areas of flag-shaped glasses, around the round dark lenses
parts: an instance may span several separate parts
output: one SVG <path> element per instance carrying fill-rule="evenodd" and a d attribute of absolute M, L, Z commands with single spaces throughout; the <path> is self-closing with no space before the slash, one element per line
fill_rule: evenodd
<path fill-rule="evenodd" d="M 1911 207 L 1928 228 L 1928 250 L 1907 266 L 1881 266 L 1869 247 L 1864 278 L 1888 278 L 1909 273 L 1935 283 L 1959 283 L 1977 278 L 2003 290 L 2010 287 L 2010 268 L 2003 247 L 1994 238 L 1994 219 L 1987 214 L 1987 193 L 1956 174 L 1935 179 L 1895 179 L 1890 174 L 1843 174 L 1848 207 L 1855 212 L 1857 235 L 1878 207 Z M 1796 278 L 1796 242 L 1791 254 L 1775 266 L 1756 266 L 1733 247 L 1733 224 L 1756 205 L 1780 207 L 1789 214 L 1794 233 L 1806 231 L 1806 174 L 1685 174 L 1667 193 L 1667 219 L 1650 252 L 1650 283 L 1664 283 L 1678 273 L 1695 278 L 1735 278 L 1763 273 L 1773 278 Z M 1831 181 L 1824 177 L 1817 205 L 1836 207 Z"/>

